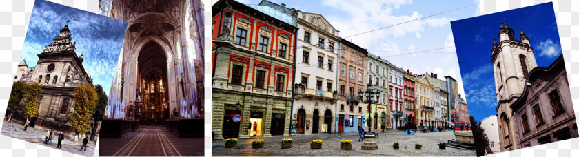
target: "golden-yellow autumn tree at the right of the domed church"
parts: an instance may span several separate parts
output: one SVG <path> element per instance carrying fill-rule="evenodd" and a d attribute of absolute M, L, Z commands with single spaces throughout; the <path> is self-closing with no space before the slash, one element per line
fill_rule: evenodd
<path fill-rule="evenodd" d="M 88 132 L 90 129 L 92 114 L 96 108 L 96 90 L 94 86 L 88 83 L 80 83 L 74 89 L 74 98 L 72 98 L 72 113 L 69 115 L 69 123 L 72 128 L 79 133 Z"/>

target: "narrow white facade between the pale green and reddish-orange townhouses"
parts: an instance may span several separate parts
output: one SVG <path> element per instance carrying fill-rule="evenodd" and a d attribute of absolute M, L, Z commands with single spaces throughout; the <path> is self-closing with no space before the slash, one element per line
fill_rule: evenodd
<path fill-rule="evenodd" d="M 390 122 L 391 128 L 396 129 L 402 126 L 404 119 L 403 109 L 403 86 L 404 86 L 404 70 L 400 67 L 396 67 L 394 64 L 388 65 L 388 98 L 390 105 Z"/>

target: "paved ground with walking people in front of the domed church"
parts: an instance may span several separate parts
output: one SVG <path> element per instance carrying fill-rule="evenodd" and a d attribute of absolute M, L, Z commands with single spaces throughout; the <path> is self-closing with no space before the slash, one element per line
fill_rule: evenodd
<path fill-rule="evenodd" d="M 20 140 L 26 140 L 30 143 L 37 143 L 38 145 L 44 145 L 46 147 L 52 147 L 57 149 L 57 136 L 54 136 L 54 145 L 48 145 L 44 143 L 45 139 L 42 139 L 42 136 L 46 133 L 47 130 L 45 129 L 37 129 L 34 127 L 28 127 L 26 132 L 24 131 L 23 125 L 14 123 L 8 123 L 8 121 L 4 121 L 2 124 L 2 131 L 0 134 L 4 136 L 8 136 L 11 138 L 17 138 Z M 58 133 L 57 133 L 58 135 Z M 92 156 L 94 154 L 94 141 L 89 141 L 87 144 L 86 151 L 80 151 L 82 145 L 82 140 L 79 140 L 79 143 L 76 143 L 72 140 L 64 139 L 62 141 L 62 148 L 63 151 L 68 151 L 73 154 L 79 154 L 82 156 Z"/>

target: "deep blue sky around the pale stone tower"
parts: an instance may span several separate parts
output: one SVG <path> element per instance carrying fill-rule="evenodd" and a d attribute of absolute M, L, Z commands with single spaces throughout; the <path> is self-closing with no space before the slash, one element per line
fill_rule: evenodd
<path fill-rule="evenodd" d="M 520 29 L 525 32 L 538 66 L 551 65 L 562 53 L 552 3 L 453 21 L 469 114 L 479 121 L 496 114 L 491 48 L 493 39 L 499 42 L 499 26 L 503 21 L 513 28 L 516 39 L 520 39 Z"/>

